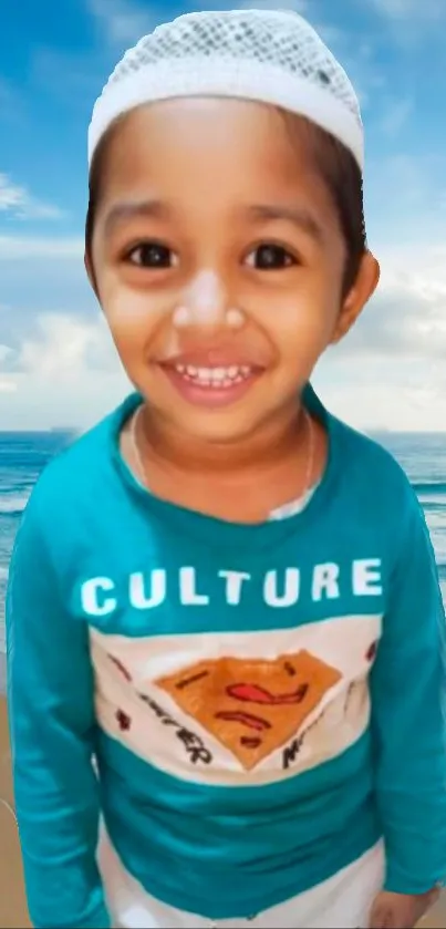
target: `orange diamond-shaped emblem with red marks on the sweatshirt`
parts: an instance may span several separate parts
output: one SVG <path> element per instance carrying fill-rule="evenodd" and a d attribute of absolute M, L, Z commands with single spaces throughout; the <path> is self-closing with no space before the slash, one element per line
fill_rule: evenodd
<path fill-rule="evenodd" d="M 272 661 L 200 661 L 155 683 L 250 771 L 295 735 L 341 678 L 300 651 Z"/>

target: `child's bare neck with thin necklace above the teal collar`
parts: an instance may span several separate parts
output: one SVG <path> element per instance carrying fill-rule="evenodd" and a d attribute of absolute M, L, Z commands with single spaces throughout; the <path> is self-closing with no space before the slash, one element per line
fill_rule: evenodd
<path fill-rule="evenodd" d="M 139 416 L 139 461 L 132 422 L 121 437 L 123 455 L 137 478 L 155 496 L 217 518 L 265 522 L 302 496 L 324 468 L 325 432 L 312 421 L 314 454 L 310 455 L 309 424 L 295 404 L 280 422 L 274 420 L 234 444 L 191 440 L 159 424 L 153 411 L 142 410 Z"/>

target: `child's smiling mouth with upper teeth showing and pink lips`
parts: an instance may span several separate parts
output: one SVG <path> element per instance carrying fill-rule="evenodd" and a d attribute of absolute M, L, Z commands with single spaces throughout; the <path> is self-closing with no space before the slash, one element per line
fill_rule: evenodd
<path fill-rule="evenodd" d="M 170 363 L 162 365 L 170 383 L 189 403 L 201 406 L 225 406 L 239 400 L 257 379 L 261 369 L 249 364 L 198 367 Z"/>

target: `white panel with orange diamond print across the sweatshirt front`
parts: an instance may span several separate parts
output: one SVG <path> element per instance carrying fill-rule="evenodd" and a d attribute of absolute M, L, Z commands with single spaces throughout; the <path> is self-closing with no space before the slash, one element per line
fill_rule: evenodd
<path fill-rule="evenodd" d="M 381 618 L 128 639 L 91 630 L 104 732 L 181 780 L 281 781 L 336 757 L 370 721 Z"/>

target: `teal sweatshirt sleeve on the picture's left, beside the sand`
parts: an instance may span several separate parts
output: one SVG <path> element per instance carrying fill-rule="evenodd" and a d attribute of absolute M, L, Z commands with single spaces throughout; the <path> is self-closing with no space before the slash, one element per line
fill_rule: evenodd
<path fill-rule="evenodd" d="M 108 929 L 96 866 L 87 630 L 64 610 L 35 497 L 17 536 L 7 593 L 8 706 L 28 906 L 42 929 Z M 46 522 L 58 518 L 50 514 Z"/>

